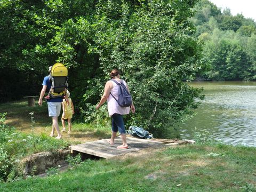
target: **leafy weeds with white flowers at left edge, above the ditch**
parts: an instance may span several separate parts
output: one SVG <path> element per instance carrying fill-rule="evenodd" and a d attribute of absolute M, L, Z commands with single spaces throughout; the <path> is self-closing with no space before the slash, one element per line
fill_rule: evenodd
<path fill-rule="evenodd" d="M 68 147 L 64 140 L 46 134 L 36 134 L 32 127 L 29 134 L 18 132 L 5 123 L 6 114 L 0 114 L 0 182 L 23 178 L 20 161 L 41 151 L 57 151 Z"/>

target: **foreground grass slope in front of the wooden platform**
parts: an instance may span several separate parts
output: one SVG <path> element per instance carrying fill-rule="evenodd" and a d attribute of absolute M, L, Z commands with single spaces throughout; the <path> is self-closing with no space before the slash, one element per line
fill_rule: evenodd
<path fill-rule="evenodd" d="M 0 191 L 256 191 L 256 148 L 187 145 L 87 160 Z"/>

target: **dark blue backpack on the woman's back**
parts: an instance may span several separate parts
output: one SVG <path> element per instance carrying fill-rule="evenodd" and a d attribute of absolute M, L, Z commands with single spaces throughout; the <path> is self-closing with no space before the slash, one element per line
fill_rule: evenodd
<path fill-rule="evenodd" d="M 132 105 L 132 96 L 127 90 L 127 87 L 124 85 L 123 80 L 122 82 L 117 82 L 115 79 L 111 79 L 111 81 L 114 81 L 118 86 L 118 100 L 113 96 L 113 94 L 110 92 L 112 97 L 116 100 L 119 106 L 121 107 L 130 107 Z"/>

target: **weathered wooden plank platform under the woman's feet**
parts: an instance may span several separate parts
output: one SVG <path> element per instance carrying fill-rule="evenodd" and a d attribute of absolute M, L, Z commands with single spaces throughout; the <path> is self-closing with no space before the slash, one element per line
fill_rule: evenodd
<path fill-rule="evenodd" d="M 129 149 L 117 149 L 116 147 L 118 145 L 122 145 L 122 139 L 120 137 L 117 137 L 115 139 L 115 145 L 110 145 L 107 141 L 108 139 L 91 141 L 76 146 L 71 146 L 71 153 L 73 153 L 73 151 L 78 151 L 98 157 L 110 158 L 131 153 L 133 151 L 138 151 L 140 149 L 163 146 L 165 144 L 162 141 L 150 139 L 137 139 L 131 137 L 127 137 L 126 139 L 129 145 Z"/>

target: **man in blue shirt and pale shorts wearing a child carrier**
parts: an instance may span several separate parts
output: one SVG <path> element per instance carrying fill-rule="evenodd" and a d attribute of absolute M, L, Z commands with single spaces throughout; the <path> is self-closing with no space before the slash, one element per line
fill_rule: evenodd
<path fill-rule="evenodd" d="M 51 68 L 52 66 L 49 67 L 49 72 L 51 73 Z M 44 77 L 43 81 L 43 87 L 40 93 L 40 98 L 38 100 L 38 105 L 42 106 L 42 100 L 45 95 L 45 92 L 49 92 L 52 86 L 52 82 L 50 81 L 50 77 L 46 76 Z M 54 136 L 54 129 L 56 129 L 58 136 L 56 139 L 61 139 L 61 134 L 59 130 L 59 124 L 58 124 L 58 117 L 60 115 L 60 109 L 61 109 L 61 103 L 62 103 L 62 98 L 51 98 L 47 99 L 47 106 L 48 106 L 48 113 L 49 117 L 52 117 L 52 132 L 50 134 L 50 137 Z"/>

